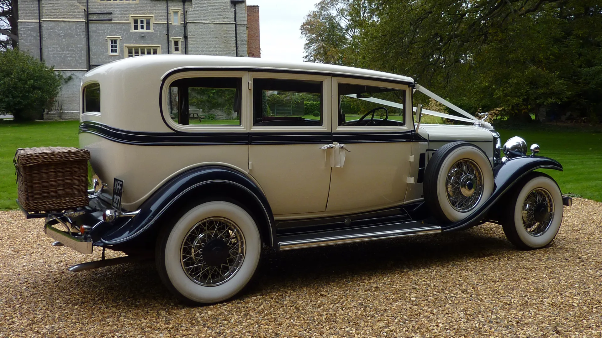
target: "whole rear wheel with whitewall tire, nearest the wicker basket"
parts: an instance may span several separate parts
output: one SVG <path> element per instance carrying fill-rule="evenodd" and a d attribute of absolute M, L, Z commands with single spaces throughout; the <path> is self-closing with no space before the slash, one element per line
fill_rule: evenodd
<path fill-rule="evenodd" d="M 260 257 L 261 237 L 253 217 L 226 201 L 192 207 L 158 238 L 161 280 L 189 303 L 234 297 L 255 274 Z"/>

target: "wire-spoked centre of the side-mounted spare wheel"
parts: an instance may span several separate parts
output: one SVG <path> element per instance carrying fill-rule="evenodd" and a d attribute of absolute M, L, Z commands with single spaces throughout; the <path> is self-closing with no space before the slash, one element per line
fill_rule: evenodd
<path fill-rule="evenodd" d="M 479 166 L 470 159 L 461 159 L 452 165 L 447 179 L 447 200 L 455 210 L 472 210 L 483 195 L 483 174 Z"/>

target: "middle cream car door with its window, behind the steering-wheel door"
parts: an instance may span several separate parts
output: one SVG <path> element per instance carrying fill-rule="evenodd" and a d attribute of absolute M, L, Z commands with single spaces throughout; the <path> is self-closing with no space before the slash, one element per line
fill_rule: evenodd
<path fill-rule="evenodd" d="M 249 73 L 249 173 L 275 215 L 326 209 L 330 85 L 329 76 Z"/>

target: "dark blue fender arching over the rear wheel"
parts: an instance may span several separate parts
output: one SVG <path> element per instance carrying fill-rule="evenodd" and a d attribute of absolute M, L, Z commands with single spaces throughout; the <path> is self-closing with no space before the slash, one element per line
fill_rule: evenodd
<path fill-rule="evenodd" d="M 174 210 L 182 201 L 187 201 L 187 196 L 211 197 L 208 192 L 212 189 L 229 191 L 231 195 L 228 197 L 235 200 L 249 201 L 250 205 L 245 207 L 259 218 L 259 231 L 262 232 L 264 241 L 275 247 L 274 217 L 261 189 L 243 173 L 217 165 L 194 168 L 174 177 L 144 201 L 138 215 L 102 235 L 101 242 L 103 245 L 121 246 L 133 241 L 160 226 L 157 220 L 162 215 L 169 217 L 170 210 Z"/>

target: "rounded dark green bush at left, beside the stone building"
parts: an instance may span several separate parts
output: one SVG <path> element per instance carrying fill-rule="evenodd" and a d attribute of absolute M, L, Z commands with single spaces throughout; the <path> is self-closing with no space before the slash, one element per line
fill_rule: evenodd
<path fill-rule="evenodd" d="M 54 103 L 63 77 L 28 54 L 0 52 L 0 112 L 33 120 Z"/>

